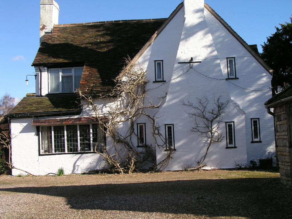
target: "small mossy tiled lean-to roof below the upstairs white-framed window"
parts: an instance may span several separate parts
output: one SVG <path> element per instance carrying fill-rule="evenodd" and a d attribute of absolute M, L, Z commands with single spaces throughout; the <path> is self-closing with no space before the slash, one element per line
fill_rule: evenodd
<path fill-rule="evenodd" d="M 52 94 L 43 97 L 24 97 L 8 116 L 80 114 L 81 105 L 76 93 Z"/>

